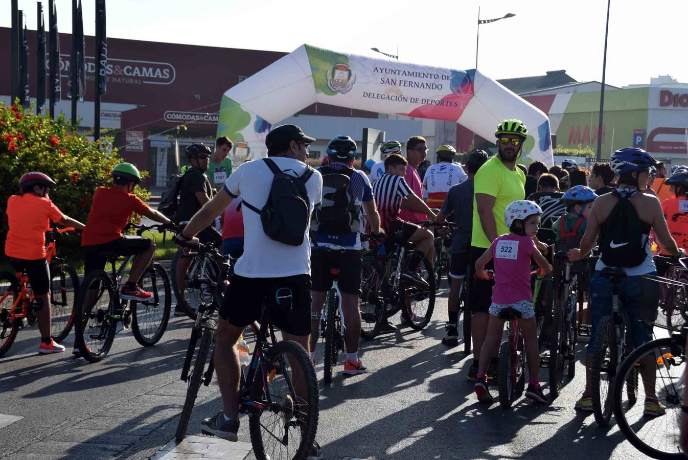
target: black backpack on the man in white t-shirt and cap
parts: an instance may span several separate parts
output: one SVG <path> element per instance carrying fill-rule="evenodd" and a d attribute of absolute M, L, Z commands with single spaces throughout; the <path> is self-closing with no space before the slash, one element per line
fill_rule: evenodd
<path fill-rule="evenodd" d="M 303 244 L 310 218 L 305 183 L 313 175 L 314 170 L 306 166 L 307 169 L 301 177 L 294 177 L 284 173 L 270 158 L 264 158 L 263 161 L 275 175 L 272 178 L 268 201 L 263 209 L 252 206 L 246 199 L 242 203 L 260 215 L 263 231 L 268 237 L 280 243 L 300 246 Z"/>

